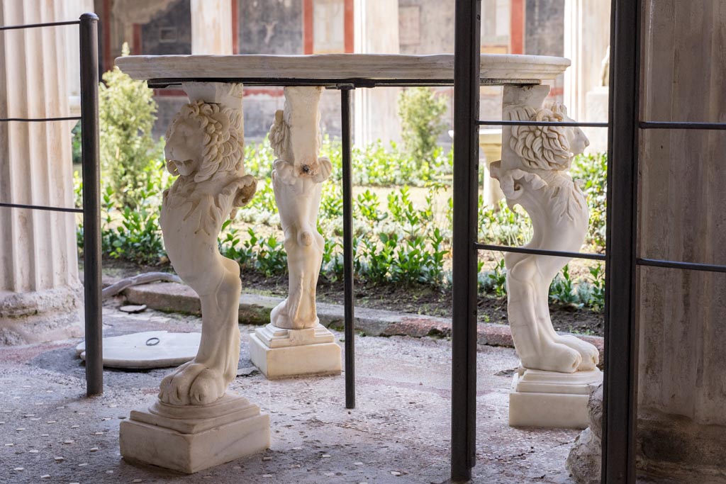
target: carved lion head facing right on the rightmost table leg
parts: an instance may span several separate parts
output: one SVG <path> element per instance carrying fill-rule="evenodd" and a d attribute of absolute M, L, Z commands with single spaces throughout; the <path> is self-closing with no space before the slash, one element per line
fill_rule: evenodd
<path fill-rule="evenodd" d="M 566 107 L 554 103 L 539 110 L 521 106 L 507 112 L 509 120 L 562 122 L 571 121 Z M 574 155 L 590 144 L 580 128 L 568 126 L 512 126 L 510 148 L 530 168 L 564 170 Z"/>

